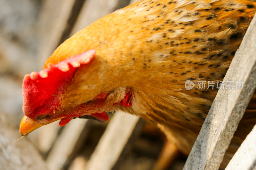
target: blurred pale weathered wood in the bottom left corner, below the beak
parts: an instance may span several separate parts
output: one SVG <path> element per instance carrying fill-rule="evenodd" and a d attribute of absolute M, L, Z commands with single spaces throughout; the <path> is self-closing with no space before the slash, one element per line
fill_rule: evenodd
<path fill-rule="evenodd" d="M 0 134 L 1 170 L 47 169 L 42 156 L 28 139 L 15 141 L 21 137 L 19 129 L 12 124 L 12 118 L 3 113 L 0 113 Z"/>

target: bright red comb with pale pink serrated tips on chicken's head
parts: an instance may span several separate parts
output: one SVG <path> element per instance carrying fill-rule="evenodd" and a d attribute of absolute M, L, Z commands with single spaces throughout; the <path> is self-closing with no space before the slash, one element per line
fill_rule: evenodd
<path fill-rule="evenodd" d="M 95 55 L 95 50 L 68 58 L 47 69 L 25 75 L 22 85 L 23 112 L 31 119 L 50 113 L 60 102 L 59 95 L 65 85 L 72 80 L 80 65 L 87 64 Z"/>

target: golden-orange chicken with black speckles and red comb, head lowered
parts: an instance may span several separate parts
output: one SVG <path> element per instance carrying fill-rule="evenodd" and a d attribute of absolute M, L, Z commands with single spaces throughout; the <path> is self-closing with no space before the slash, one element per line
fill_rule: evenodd
<path fill-rule="evenodd" d="M 122 110 L 188 154 L 218 91 L 196 87 L 223 80 L 255 11 L 255 1 L 141 0 L 98 19 L 25 75 L 21 135 Z M 186 80 L 195 87 L 186 90 Z"/>

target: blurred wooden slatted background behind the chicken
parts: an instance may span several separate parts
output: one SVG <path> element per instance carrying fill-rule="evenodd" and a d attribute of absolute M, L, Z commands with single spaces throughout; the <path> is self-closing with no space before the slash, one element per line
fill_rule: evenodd
<path fill-rule="evenodd" d="M 104 123 L 76 119 L 60 128 L 54 122 L 29 134 L 27 142 L 11 144 L 19 137 L 18 127 L 23 117 L 23 76 L 40 71 L 48 56 L 68 37 L 133 2 L 136 0 L 0 0 L 0 115 L 8 115 L 0 128 L 8 130 L 6 125 L 13 123 L 17 129 L 8 134 L 12 136 L 6 141 L 8 147 L 15 148 L 18 143 L 28 150 L 37 149 L 50 170 L 182 169 L 186 160 L 182 155 L 171 167 L 166 164 L 168 160 L 162 149 L 169 145 L 159 129 L 125 113 L 109 115 L 112 118 Z M 0 149 L 6 147 L 0 141 Z M 16 153 L 5 154 L 12 157 Z M 23 159 L 37 157 L 34 154 L 27 153 Z M 0 159 L 1 155 L 0 152 Z M 0 169 L 20 166 L 12 159 L 0 161 Z M 43 165 L 38 167 L 41 169 Z"/>

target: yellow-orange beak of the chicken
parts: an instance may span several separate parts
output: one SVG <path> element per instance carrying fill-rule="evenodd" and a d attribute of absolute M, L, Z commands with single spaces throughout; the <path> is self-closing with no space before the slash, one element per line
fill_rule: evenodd
<path fill-rule="evenodd" d="M 55 122 L 61 118 L 53 119 L 53 120 L 33 120 L 27 116 L 24 116 L 20 122 L 20 134 L 24 137 L 28 136 L 28 134 L 41 126 L 47 125 L 49 123 Z"/>

